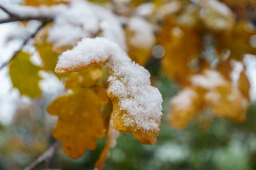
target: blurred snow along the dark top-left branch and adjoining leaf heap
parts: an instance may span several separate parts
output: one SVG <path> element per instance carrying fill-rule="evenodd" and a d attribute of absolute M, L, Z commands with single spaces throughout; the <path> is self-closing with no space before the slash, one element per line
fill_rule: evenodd
<path fill-rule="evenodd" d="M 73 0 L 69 5 L 18 6 L 6 5 L 8 10 L 21 17 L 54 18 L 48 32 L 48 41 L 54 48 L 74 46 L 84 37 L 102 33 L 126 50 L 121 22 L 111 11 L 87 1 Z"/>

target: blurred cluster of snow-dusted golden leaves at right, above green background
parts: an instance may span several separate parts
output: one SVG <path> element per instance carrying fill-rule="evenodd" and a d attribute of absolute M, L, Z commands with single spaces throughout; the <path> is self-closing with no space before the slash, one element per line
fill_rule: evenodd
<path fill-rule="evenodd" d="M 199 125 L 205 128 L 209 126 L 212 115 L 237 122 L 245 120 L 247 99 L 220 72 L 205 69 L 201 74 L 191 77 L 190 81 L 191 85 L 170 101 L 172 110 L 168 116 L 171 126 L 183 129 L 190 120 L 197 118 Z M 205 109 L 204 115 L 199 115 Z"/>

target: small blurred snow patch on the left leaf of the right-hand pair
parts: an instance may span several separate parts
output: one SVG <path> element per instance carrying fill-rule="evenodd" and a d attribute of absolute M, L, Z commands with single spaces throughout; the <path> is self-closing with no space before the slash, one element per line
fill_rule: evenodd
<path fill-rule="evenodd" d="M 176 106 L 177 109 L 185 109 L 192 103 L 192 99 L 196 98 L 197 92 L 193 89 L 186 88 L 178 93 L 171 101 L 172 106 Z"/>

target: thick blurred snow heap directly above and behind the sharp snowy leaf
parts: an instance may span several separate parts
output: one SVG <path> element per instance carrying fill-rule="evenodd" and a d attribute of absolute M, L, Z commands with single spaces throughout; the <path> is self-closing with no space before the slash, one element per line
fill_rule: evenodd
<path fill-rule="evenodd" d="M 94 37 L 100 32 L 126 49 L 121 22 L 114 14 L 100 6 L 75 0 L 55 17 L 48 41 L 54 43 L 54 47 L 74 46 L 82 38 Z"/>

